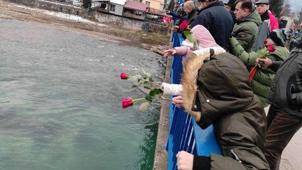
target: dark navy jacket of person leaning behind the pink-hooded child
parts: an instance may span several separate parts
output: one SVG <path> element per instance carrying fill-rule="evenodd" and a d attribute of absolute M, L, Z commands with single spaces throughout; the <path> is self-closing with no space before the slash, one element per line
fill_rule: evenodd
<path fill-rule="evenodd" d="M 193 28 L 196 25 L 204 26 L 219 46 L 227 48 L 234 23 L 231 14 L 223 7 L 223 2 L 216 1 L 201 9 L 190 27 Z"/>

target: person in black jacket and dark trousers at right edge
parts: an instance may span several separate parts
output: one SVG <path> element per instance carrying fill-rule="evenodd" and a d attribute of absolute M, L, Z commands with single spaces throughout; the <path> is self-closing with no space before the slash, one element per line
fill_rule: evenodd
<path fill-rule="evenodd" d="M 258 59 L 276 72 L 268 101 L 265 157 L 271 170 L 279 169 L 284 148 L 302 126 L 302 38 L 284 62 Z"/>

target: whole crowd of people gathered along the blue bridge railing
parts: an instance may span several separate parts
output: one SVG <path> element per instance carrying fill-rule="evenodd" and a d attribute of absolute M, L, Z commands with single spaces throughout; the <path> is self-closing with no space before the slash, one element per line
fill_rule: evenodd
<path fill-rule="evenodd" d="M 268 0 L 198 0 L 167 11 L 178 20 L 174 31 L 184 36 L 187 22 L 196 39 L 165 51 L 164 57 L 186 56 L 172 102 L 202 129 L 213 124 L 222 149 L 209 157 L 181 151 L 178 169 L 279 169 L 302 126 L 302 37 L 278 29 L 268 8 Z"/>

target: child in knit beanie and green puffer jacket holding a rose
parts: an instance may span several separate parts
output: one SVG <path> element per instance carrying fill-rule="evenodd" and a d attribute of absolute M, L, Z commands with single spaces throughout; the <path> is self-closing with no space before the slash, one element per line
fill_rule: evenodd
<path fill-rule="evenodd" d="M 275 51 L 269 52 L 267 57 L 274 61 L 284 61 L 289 53 L 288 49 L 284 47 L 284 44 L 287 39 L 290 38 L 290 36 L 291 33 L 288 29 L 277 29 L 272 31 L 269 34 L 266 46 L 273 45 Z M 261 100 L 263 106 L 268 107 L 269 104 L 267 103 L 267 95 L 272 86 L 275 72 L 266 67 L 256 67 L 256 70 L 253 69 L 257 63 L 256 59 L 258 58 L 258 51 L 263 51 L 263 49 L 258 50 L 257 52 L 248 53 L 235 38 L 230 39 L 229 47 L 229 52 L 238 57 L 244 63 L 244 65 L 248 67 L 249 71 L 255 71 L 254 74 L 250 74 L 251 88 Z"/>

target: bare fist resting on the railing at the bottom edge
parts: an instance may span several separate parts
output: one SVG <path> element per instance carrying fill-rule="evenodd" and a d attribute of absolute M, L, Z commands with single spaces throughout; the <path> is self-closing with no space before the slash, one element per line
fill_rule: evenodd
<path fill-rule="evenodd" d="M 194 155 L 181 151 L 176 155 L 179 170 L 192 170 Z"/>

